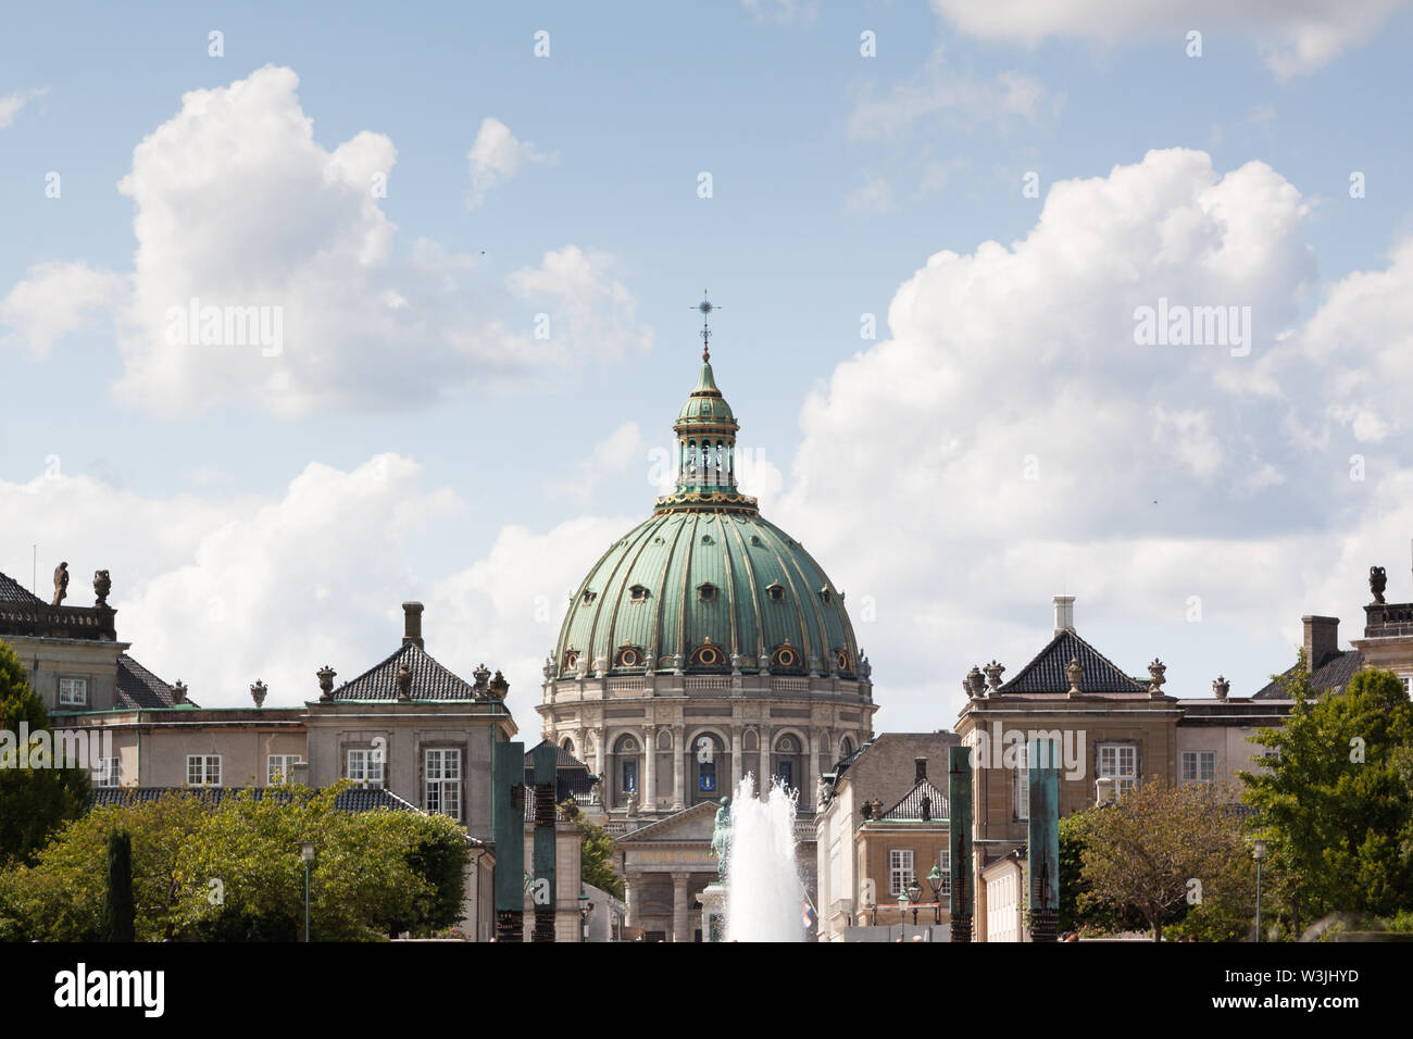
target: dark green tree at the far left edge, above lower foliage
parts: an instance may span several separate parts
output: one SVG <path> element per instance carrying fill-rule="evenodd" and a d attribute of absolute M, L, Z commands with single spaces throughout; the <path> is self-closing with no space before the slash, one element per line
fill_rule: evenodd
<path fill-rule="evenodd" d="M 58 827 L 82 814 L 89 796 L 82 769 L 28 768 L 27 753 L 21 761 L 28 748 L 20 748 L 18 738 L 25 729 L 49 731 L 49 714 L 30 688 L 20 657 L 0 642 L 0 732 L 8 734 L 8 746 L 0 751 L 0 868 L 32 862 Z"/>

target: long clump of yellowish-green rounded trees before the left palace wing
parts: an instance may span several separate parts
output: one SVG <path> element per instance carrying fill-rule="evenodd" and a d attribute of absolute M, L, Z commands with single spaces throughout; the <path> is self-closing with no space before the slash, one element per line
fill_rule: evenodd
<path fill-rule="evenodd" d="M 304 933 L 304 862 L 317 940 L 438 933 L 462 916 L 465 831 L 445 816 L 343 811 L 346 786 L 226 797 L 194 792 L 95 809 L 32 867 L 0 874 L 0 937 L 95 941 L 103 934 L 109 835 L 131 835 L 137 940 L 294 940 Z"/>

